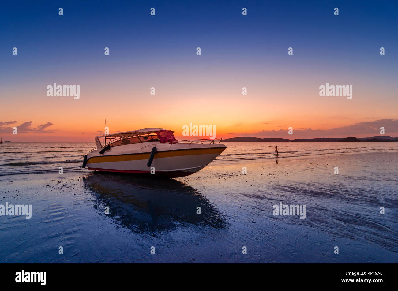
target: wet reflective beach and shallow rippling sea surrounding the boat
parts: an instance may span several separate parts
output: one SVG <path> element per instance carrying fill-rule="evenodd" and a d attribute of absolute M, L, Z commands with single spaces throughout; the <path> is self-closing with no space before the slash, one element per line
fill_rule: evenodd
<path fill-rule="evenodd" d="M 277 143 L 276 158 L 231 142 L 175 179 L 80 169 L 90 143 L 18 144 L 0 151 L 0 204 L 32 216 L 0 217 L 2 263 L 398 262 L 396 143 Z"/>

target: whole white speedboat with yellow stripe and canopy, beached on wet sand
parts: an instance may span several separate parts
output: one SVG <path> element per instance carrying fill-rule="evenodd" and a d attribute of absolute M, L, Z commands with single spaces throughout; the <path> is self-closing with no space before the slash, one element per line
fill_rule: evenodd
<path fill-rule="evenodd" d="M 173 133 L 142 128 L 97 136 L 96 148 L 84 156 L 83 168 L 177 178 L 203 169 L 226 149 L 221 139 L 178 141 Z"/>

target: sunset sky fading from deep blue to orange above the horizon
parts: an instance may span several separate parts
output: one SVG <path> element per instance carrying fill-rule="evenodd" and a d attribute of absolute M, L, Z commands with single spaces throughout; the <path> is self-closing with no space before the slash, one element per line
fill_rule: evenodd
<path fill-rule="evenodd" d="M 105 118 L 179 138 L 190 122 L 217 138 L 398 136 L 396 1 L 40 3 L 1 4 L 3 141 L 91 142 Z M 327 82 L 353 98 L 320 97 Z M 80 99 L 48 97 L 53 83 Z"/>

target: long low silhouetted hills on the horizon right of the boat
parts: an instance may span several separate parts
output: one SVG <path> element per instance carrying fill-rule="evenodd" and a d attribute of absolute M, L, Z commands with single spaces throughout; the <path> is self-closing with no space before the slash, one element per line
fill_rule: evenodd
<path fill-rule="evenodd" d="M 238 138 L 227 138 L 223 142 L 398 142 L 398 138 L 391 136 L 372 136 L 370 138 L 298 138 L 289 140 L 287 138 L 254 138 L 252 136 L 241 136 Z"/>

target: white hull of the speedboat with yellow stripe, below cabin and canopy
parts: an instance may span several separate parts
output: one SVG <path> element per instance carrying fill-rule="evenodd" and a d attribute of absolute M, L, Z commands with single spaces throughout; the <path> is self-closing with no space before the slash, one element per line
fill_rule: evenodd
<path fill-rule="evenodd" d="M 147 166 L 150 150 L 156 146 L 152 164 Z M 120 149 L 120 147 L 117 147 Z M 226 149 L 222 144 L 164 145 L 155 144 L 146 146 L 142 152 L 129 152 L 128 148 L 122 151 L 113 151 L 113 148 L 104 153 L 90 153 L 87 156 L 87 167 L 95 171 L 117 173 L 133 173 L 152 175 L 153 177 L 184 177 L 196 173 L 213 161 Z"/>

